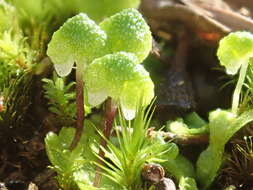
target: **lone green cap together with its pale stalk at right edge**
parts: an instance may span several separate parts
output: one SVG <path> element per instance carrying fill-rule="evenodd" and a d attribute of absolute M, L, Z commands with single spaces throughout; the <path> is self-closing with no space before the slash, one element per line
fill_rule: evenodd
<path fill-rule="evenodd" d="M 240 70 L 232 102 L 232 112 L 236 113 L 247 68 L 253 57 L 253 34 L 249 32 L 230 33 L 220 41 L 217 56 L 228 74 L 235 75 Z"/>

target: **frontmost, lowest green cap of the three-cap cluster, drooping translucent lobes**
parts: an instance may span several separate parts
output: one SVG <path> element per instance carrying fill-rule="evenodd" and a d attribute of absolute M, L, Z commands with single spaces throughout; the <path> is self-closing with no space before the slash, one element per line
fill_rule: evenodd
<path fill-rule="evenodd" d="M 95 59 L 85 73 L 88 102 L 96 106 L 107 97 L 121 105 L 131 120 L 139 100 L 148 105 L 154 97 L 154 84 L 134 54 L 117 52 Z"/>

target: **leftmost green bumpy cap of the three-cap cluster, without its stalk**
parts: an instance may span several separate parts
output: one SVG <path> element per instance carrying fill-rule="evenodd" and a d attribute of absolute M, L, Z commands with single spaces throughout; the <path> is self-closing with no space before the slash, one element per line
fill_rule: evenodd
<path fill-rule="evenodd" d="M 87 66 L 94 58 L 104 54 L 106 34 L 83 13 L 67 20 L 54 33 L 47 54 L 52 59 L 56 72 L 66 76 L 74 62 Z"/>

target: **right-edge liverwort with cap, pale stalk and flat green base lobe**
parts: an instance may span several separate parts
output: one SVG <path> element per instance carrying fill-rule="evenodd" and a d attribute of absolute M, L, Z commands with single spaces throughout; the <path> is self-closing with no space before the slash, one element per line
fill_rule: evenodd
<path fill-rule="evenodd" d="M 217 175 L 223 161 L 225 144 L 243 126 L 253 120 L 252 109 L 238 113 L 241 89 L 251 66 L 253 35 L 248 32 L 235 32 L 220 41 L 217 55 L 228 74 L 239 78 L 232 101 L 232 112 L 215 110 L 209 115 L 210 142 L 197 161 L 197 177 L 204 189 L 208 188 Z M 210 164 L 211 163 L 211 164 Z"/>

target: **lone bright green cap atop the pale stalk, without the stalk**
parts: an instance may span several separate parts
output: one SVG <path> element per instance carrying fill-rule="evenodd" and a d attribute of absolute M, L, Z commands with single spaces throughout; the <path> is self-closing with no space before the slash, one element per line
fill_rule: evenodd
<path fill-rule="evenodd" d="M 217 56 L 228 74 L 236 74 L 253 56 L 253 35 L 249 32 L 230 33 L 220 41 Z"/>

